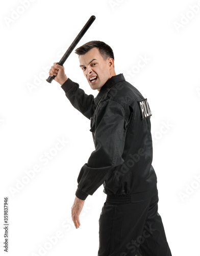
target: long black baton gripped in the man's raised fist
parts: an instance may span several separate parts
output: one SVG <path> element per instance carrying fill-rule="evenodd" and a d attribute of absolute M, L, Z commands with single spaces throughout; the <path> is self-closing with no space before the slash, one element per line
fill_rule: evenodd
<path fill-rule="evenodd" d="M 94 22 L 94 19 L 96 17 L 94 15 L 92 15 L 89 19 L 88 22 L 86 23 L 86 25 L 82 28 L 81 32 L 78 34 L 78 36 L 73 40 L 72 44 L 70 45 L 70 47 L 68 48 L 68 50 L 65 52 L 65 54 L 62 56 L 61 60 L 57 63 L 60 66 L 63 66 L 65 60 L 69 57 L 69 55 L 71 54 L 71 52 L 73 51 L 73 49 L 76 47 L 76 45 L 78 44 L 78 42 L 81 40 L 81 38 L 84 36 L 84 34 L 86 33 L 86 31 L 89 29 L 89 27 L 92 25 L 92 23 Z M 51 83 L 54 78 L 56 76 L 49 76 L 46 81 Z"/>

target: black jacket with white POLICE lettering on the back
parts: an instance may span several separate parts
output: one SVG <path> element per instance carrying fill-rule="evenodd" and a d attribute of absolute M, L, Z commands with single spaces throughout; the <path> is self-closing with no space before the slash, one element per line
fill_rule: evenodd
<path fill-rule="evenodd" d="M 123 74 L 109 79 L 95 98 L 69 78 L 61 88 L 74 108 L 91 120 L 95 145 L 80 170 L 76 196 L 85 200 L 104 184 L 107 195 L 151 197 L 157 191 L 157 177 L 147 100 Z"/>

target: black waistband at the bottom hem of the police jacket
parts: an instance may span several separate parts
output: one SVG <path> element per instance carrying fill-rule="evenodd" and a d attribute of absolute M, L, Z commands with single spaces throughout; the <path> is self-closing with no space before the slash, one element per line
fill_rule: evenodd
<path fill-rule="evenodd" d="M 107 195 L 106 203 L 129 204 L 134 202 L 142 202 L 151 199 L 156 193 L 158 193 L 158 189 L 157 187 L 153 187 L 150 190 L 129 195 Z"/>

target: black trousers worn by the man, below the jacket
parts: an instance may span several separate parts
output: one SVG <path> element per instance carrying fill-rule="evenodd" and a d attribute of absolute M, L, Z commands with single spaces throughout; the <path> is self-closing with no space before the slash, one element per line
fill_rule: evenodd
<path fill-rule="evenodd" d="M 158 200 L 157 191 L 144 201 L 105 202 L 99 218 L 98 256 L 171 256 Z"/>

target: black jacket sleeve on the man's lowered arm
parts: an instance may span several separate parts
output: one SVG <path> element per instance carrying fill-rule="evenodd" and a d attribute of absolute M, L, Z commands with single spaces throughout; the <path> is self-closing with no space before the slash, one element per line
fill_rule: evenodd
<path fill-rule="evenodd" d="M 78 176 L 76 196 L 85 200 L 107 179 L 109 171 L 124 162 L 122 158 L 126 137 L 126 115 L 123 106 L 107 99 L 100 103 L 92 120 L 93 151 Z"/>

